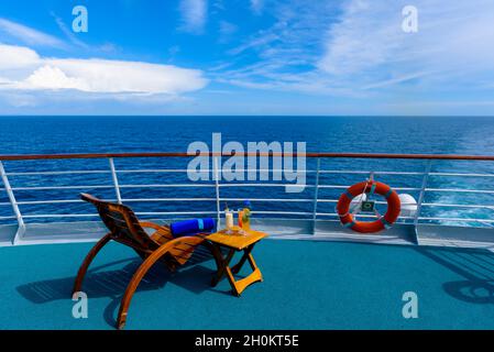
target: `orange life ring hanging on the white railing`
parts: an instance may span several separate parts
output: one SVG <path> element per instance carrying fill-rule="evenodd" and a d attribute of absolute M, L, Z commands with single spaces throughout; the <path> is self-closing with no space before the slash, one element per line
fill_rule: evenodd
<path fill-rule="evenodd" d="M 377 194 L 386 198 L 387 211 L 376 221 L 356 221 L 353 216 L 349 213 L 352 199 L 363 193 Z M 340 196 L 337 211 L 343 227 L 361 233 L 373 233 L 388 229 L 398 218 L 400 208 L 399 197 L 389 186 L 375 180 L 365 180 L 350 186 L 350 188 Z"/>

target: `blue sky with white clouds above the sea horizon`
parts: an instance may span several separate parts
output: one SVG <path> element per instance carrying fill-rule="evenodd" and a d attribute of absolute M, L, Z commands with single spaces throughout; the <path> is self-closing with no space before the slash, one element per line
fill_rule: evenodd
<path fill-rule="evenodd" d="M 0 114 L 494 116 L 494 6 L 4 0 Z"/>

